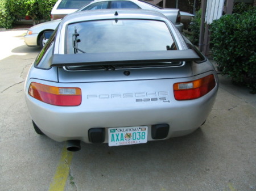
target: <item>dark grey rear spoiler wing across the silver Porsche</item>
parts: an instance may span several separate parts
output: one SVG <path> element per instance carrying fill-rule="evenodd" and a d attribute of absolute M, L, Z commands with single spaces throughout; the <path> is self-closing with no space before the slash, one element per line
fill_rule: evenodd
<path fill-rule="evenodd" d="M 125 53 L 53 54 L 49 60 L 49 66 L 134 65 L 200 60 L 200 56 L 192 49 Z"/>

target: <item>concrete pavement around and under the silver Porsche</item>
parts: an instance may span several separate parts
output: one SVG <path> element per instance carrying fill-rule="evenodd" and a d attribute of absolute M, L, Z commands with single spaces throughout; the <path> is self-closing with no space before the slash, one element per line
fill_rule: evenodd
<path fill-rule="evenodd" d="M 256 96 L 246 88 L 220 76 L 216 104 L 191 135 L 67 152 L 32 127 L 23 86 L 40 49 L 27 47 L 24 33 L 0 32 L 1 191 L 256 190 Z"/>

